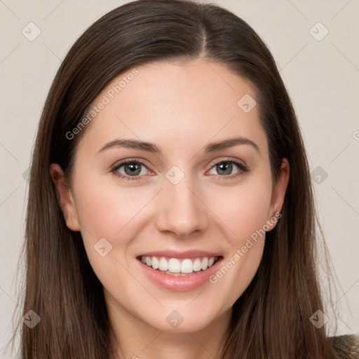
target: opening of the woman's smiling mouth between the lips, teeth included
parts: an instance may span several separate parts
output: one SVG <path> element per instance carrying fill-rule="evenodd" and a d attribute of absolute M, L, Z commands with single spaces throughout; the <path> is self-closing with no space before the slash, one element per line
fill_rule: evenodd
<path fill-rule="evenodd" d="M 222 256 L 196 257 L 196 258 L 170 258 L 170 257 L 137 257 L 143 264 L 151 269 L 170 276 L 193 276 L 196 273 L 206 271 L 213 266 Z"/>

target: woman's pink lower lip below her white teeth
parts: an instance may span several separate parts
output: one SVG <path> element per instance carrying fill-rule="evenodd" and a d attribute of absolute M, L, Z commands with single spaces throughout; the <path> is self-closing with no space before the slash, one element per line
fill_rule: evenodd
<path fill-rule="evenodd" d="M 194 274 L 189 274 L 188 276 L 171 276 L 170 274 L 161 273 L 151 266 L 143 264 L 140 259 L 137 260 L 148 278 L 159 287 L 173 292 L 186 292 L 187 290 L 201 287 L 201 285 L 208 282 L 208 278 L 217 271 L 222 259 L 223 257 L 219 258 L 215 264 L 205 271 L 193 272 Z"/>

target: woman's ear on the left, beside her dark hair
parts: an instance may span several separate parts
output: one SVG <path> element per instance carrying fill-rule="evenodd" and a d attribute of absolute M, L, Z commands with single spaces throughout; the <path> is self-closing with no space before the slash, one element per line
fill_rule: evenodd
<path fill-rule="evenodd" d="M 74 197 L 60 165 L 57 163 L 50 165 L 50 176 L 55 185 L 57 201 L 64 213 L 67 227 L 72 231 L 80 231 L 79 215 L 76 210 Z"/>

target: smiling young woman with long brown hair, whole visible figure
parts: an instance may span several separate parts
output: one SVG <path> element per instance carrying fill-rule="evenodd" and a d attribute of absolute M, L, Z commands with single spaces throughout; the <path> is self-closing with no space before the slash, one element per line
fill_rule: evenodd
<path fill-rule="evenodd" d="M 253 29 L 193 1 L 120 6 L 69 50 L 41 116 L 22 358 L 358 358 L 327 335 L 315 224 Z"/>

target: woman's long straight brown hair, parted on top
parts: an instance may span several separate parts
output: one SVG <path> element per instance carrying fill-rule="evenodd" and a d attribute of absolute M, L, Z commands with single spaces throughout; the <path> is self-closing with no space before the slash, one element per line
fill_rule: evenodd
<path fill-rule="evenodd" d="M 323 309 L 316 269 L 316 216 L 306 150 L 294 109 L 269 49 L 241 18 L 215 4 L 139 0 L 110 11 L 74 43 L 58 70 L 39 123 L 29 176 L 25 232 L 26 288 L 18 322 L 21 358 L 114 358 L 102 285 L 88 262 L 80 232 L 65 225 L 49 174 L 65 173 L 86 109 L 115 76 L 154 61 L 202 57 L 225 65 L 255 88 L 269 143 L 273 181 L 282 158 L 290 180 L 282 217 L 266 233 L 264 255 L 233 305 L 221 358 L 337 358 L 325 326 L 309 318 Z"/>

